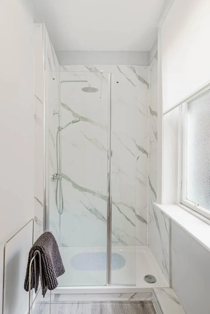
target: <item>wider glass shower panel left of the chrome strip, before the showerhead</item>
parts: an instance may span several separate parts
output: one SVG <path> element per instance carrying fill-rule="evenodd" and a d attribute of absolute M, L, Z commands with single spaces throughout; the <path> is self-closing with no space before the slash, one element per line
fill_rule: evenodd
<path fill-rule="evenodd" d="M 102 80 L 102 81 L 101 81 Z M 107 148 L 110 111 L 109 74 L 60 72 L 60 127 L 63 213 L 56 202 L 57 180 L 49 180 L 49 224 L 60 246 L 65 274 L 60 286 L 106 284 L 107 260 Z M 97 88 L 81 90 L 88 87 Z M 102 84 L 101 84 L 102 83 Z M 50 99 L 58 84 L 49 77 L 49 165 L 56 168 L 56 133 L 59 126 L 58 99 Z M 102 90 L 100 91 L 100 88 Z M 53 92 L 54 91 L 54 92 Z M 100 92 L 102 98 L 100 98 Z M 51 144 L 50 144 L 51 142 Z M 59 182 L 60 184 L 60 182 Z M 50 201 L 51 199 L 51 201 Z M 58 189 L 58 203 L 62 204 Z M 59 205 L 60 206 L 60 205 Z"/>

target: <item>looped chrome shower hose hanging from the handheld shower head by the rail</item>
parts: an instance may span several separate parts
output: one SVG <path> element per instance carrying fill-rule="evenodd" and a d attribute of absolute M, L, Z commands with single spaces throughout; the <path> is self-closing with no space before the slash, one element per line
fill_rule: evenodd
<path fill-rule="evenodd" d="M 61 130 L 58 130 L 57 135 L 56 135 L 57 176 L 61 176 L 61 174 L 62 174 L 61 173 L 61 160 L 59 159 L 59 153 L 58 153 L 58 150 L 60 150 L 60 137 L 61 137 Z M 58 193 L 59 193 L 59 203 L 58 203 Z M 62 215 L 63 214 L 62 178 L 57 178 L 55 202 L 56 202 L 56 207 L 57 207 L 59 214 Z"/>

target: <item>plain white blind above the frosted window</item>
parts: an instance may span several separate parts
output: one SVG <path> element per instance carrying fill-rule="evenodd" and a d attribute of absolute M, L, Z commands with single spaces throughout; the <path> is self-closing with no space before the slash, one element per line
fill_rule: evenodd
<path fill-rule="evenodd" d="M 210 80 L 210 1 L 175 0 L 163 22 L 163 111 Z"/>

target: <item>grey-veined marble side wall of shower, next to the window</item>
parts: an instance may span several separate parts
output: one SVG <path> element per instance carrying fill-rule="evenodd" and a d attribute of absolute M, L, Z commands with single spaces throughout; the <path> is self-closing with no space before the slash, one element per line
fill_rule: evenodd
<path fill-rule="evenodd" d="M 157 53 L 150 65 L 148 246 L 169 283 L 169 219 L 157 199 Z"/>

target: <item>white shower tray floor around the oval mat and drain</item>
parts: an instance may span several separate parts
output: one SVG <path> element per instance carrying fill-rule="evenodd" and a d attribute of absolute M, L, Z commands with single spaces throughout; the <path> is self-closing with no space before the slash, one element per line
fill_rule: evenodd
<path fill-rule="evenodd" d="M 111 283 L 117 285 L 130 286 L 136 284 L 136 288 L 152 289 L 153 287 L 167 287 L 167 281 L 164 278 L 150 250 L 146 246 L 137 247 L 137 252 L 133 247 L 113 247 L 113 252 L 121 254 L 125 258 L 126 264 L 118 270 L 111 271 Z M 106 252 L 105 247 L 80 247 L 80 248 L 60 248 L 61 257 L 65 267 L 65 273 L 58 278 L 59 289 L 56 293 L 67 293 L 65 287 L 87 287 L 87 286 L 105 286 L 106 270 L 78 270 L 71 266 L 71 258 L 76 254 L 87 252 Z M 156 283 L 149 284 L 144 280 L 145 275 L 152 274 L 156 277 Z M 63 289 L 62 292 L 59 290 Z M 79 288 L 78 287 L 78 288 Z M 125 286 L 124 286 L 125 288 Z M 99 289 L 100 290 L 100 289 Z M 88 291 L 87 288 L 84 291 Z M 71 292 L 71 291 L 69 291 Z M 83 293 L 83 291 L 80 291 Z M 97 291 L 98 292 L 98 291 Z M 116 292 L 116 291 L 114 291 Z M 118 292 L 118 291 L 117 291 Z M 123 292 L 119 291 L 119 292 Z M 149 291 L 125 291 L 125 292 L 150 292 Z M 73 293 L 73 292 L 72 292 Z M 77 290 L 74 293 L 78 293 Z M 88 292 L 87 292 L 88 293 Z M 94 293 L 94 292 L 90 292 Z M 104 292 L 103 292 L 104 293 Z"/>

